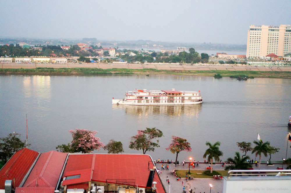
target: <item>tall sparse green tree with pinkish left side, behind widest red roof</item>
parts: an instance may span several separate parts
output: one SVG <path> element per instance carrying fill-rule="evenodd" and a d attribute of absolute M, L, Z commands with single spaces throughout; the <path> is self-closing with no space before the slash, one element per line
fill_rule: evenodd
<path fill-rule="evenodd" d="M 162 136 L 163 132 L 155 127 L 137 130 L 137 135 L 131 137 L 129 148 L 136 150 L 142 149 L 143 154 L 145 154 L 146 151 L 155 151 L 155 147 L 159 147 L 159 137 Z M 157 142 L 153 142 L 155 139 L 157 139 Z"/>

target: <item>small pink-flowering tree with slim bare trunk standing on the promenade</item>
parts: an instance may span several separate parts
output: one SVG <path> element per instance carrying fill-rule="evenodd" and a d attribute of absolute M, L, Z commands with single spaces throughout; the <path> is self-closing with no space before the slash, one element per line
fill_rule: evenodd
<path fill-rule="evenodd" d="M 181 151 L 192 151 L 191 147 L 190 147 L 190 143 L 187 142 L 186 139 L 183 139 L 181 137 L 177 137 L 177 136 L 172 136 L 173 140 L 172 143 L 169 145 L 168 148 L 166 148 L 166 150 L 170 150 L 172 153 L 177 153 L 176 154 L 176 163 L 178 160 L 178 153 L 180 153 Z"/>

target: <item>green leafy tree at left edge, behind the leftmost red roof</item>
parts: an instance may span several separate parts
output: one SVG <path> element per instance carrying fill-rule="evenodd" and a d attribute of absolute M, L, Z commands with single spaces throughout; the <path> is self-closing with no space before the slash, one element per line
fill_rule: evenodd
<path fill-rule="evenodd" d="M 13 156 L 13 153 L 26 146 L 25 142 L 16 137 L 17 135 L 21 136 L 19 133 L 10 133 L 7 137 L 0 138 L 0 160 L 4 163 Z"/>

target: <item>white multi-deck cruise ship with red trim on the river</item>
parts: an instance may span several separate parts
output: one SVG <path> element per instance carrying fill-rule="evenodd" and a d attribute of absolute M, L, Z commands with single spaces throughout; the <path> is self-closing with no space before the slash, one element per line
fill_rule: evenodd
<path fill-rule="evenodd" d="M 112 98 L 117 105 L 194 105 L 202 103 L 200 91 L 133 90 L 126 91 L 123 99 Z"/>

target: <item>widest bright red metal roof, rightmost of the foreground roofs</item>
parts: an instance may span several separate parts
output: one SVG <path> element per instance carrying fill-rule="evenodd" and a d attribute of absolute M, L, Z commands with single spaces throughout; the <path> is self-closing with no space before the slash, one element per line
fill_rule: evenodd
<path fill-rule="evenodd" d="M 150 174 L 149 162 L 152 168 L 150 156 L 139 154 L 70 154 L 64 174 L 74 170 L 92 169 L 92 181 L 135 179 L 135 183 L 131 182 L 130 185 L 146 187 Z"/>

